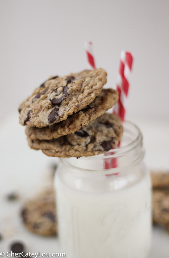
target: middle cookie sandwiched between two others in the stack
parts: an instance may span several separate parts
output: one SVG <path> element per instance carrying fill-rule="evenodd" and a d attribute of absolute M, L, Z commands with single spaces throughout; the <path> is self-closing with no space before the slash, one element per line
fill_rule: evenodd
<path fill-rule="evenodd" d="M 113 89 L 104 89 L 82 110 L 68 116 L 66 120 L 43 128 L 26 126 L 26 134 L 31 139 L 51 140 L 67 135 L 85 127 L 89 122 L 104 114 L 118 100 L 118 93 Z"/>

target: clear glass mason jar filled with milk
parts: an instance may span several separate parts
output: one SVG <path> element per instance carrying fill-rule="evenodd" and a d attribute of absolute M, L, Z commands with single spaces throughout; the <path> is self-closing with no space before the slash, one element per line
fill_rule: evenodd
<path fill-rule="evenodd" d="M 120 148 L 60 158 L 55 177 L 60 251 L 68 258 L 145 258 L 151 243 L 151 183 L 142 135 L 124 123 Z"/>

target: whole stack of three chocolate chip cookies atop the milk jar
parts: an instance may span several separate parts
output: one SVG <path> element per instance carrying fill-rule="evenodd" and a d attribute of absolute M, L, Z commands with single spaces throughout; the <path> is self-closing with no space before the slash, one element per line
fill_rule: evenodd
<path fill-rule="evenodd" d="M 99 68 L 52 77 L 19 106 L 28 144 L 47 156 L 82 157 L 109 151 L 122 138 L 121 121 L 105 113 L 118 100 L 103 89 L 107 73 Z"/>

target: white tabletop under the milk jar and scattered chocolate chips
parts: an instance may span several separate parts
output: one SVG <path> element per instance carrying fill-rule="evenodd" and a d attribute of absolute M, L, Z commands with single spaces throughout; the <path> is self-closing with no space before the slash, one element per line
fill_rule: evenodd
<path fill-rule="evenodd" d="M 149 168 L 169 169 L 169 124 L 156 119 L 132 119 L 144 136 L 145 162 Z M 9 251 L 17 239 L 25 242 L 28 252 L 57 253 L 56 237 L 41 237 L 29 232 L 19 216 L 25 199 L 39 192 L 49 181 L 48 168 L 58 159 L 28 147 L 24 127 L 18 124 L 18 114 L 0 122 L 0 252 Z M 6 195 L 17 192 L 20 198 L 7 201 Z M 6 257 L 6 256 L 4 256 Z M 169 233 L 154 227 L 148 258 L 169 257 Z M 87 257 L 86 257 L 87 258 Z M 106 258 L 106 257 L 105 257 Z"/>

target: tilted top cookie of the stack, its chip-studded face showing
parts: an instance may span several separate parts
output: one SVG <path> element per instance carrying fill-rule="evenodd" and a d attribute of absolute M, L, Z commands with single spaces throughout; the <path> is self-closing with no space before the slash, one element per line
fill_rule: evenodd
<path fill-rule="evenodd" d="M 106 76 L 99 68 L 47 80 L 20 105 L 20 124 L 45 127 L 67 119 L 99 95 Z"/>

